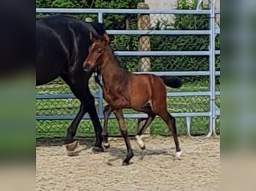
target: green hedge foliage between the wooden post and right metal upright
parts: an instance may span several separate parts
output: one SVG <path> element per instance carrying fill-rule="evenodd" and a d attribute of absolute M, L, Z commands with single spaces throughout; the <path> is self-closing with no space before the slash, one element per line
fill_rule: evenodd
<path fill-rule="evenodd" d="M 189 3 L 187 0 L 178 0 L 177 9 L 195 10 L 197 1 Z M 208 7 L 203 6 L 208 9 Z M 175 30 L 209 30 L 209 15 L 175 15 L 173 24 L 165 27 Z M 155 37 L 153 37 L 155 38 Z M 151 47 L 158 51 L 208 51 L 208 35 L 164 35 L 151 38 Z M 159 42 L 162 42 L 161 44 Z M 151 59 L 155 71 L 207 71 L 209 70 L 208 56 L 173 56 L 154 57 Z M 207 77 L 183 77 L 186 81 L 202 80 Z"/>

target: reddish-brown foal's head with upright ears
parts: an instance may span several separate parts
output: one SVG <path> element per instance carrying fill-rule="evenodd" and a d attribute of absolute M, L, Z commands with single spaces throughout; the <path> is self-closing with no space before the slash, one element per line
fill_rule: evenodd
<path fill-rule="evenodd" d="M 92 33 L 90 33 L 90 40 L 93 43 L 89 47 L 89 55 L 83 63 L 83 68 L 86 72 L 103 64 L 104 51 L 109 45 L 109 36 L 106 33 L 104 33 L 101 39 L 95 39 Z"/>

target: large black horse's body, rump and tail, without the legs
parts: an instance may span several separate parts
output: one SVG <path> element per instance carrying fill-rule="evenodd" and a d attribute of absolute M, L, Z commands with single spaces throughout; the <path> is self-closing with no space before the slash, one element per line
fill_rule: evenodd
<path fill-rule="evenodd" d="M 63 74 L 86 76 L 82 63 L 91 45 L 89 32 L 96 36 L 105 32 L 100 23 L 87 23 L 70 16 L 36 19 L 35 29 L 36 85 Z"/>

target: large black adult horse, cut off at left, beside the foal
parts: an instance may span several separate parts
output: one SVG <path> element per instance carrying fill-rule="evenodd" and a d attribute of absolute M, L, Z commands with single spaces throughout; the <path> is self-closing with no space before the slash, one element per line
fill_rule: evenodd
<path fill-rule="evenodd" d="M 96 133 L 96 146 L 101 147 L 102 127 L 96 112 L 88 80 L 92 73 L 85 73 L 83 61 L 91 45 L 90 32 L 96 37 L 105 33 L 101 23 L 88 23 L 71 16 L 51 16 L 36 19 L 36 86 L 61 77 L 81 101 L 80 111 L 68 128 L 66 143 L 73 142 L 78 124 L 88 112 Z"/>

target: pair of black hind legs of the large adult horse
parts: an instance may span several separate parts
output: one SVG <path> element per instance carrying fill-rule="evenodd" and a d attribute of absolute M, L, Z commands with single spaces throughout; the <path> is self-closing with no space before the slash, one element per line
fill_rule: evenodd
<path fill-rule="evenodd" d="M 94 131 L 96 134 L 94 151 L 103 151 L 101 146 L 102 127 L 95 108 L 94 97 L 88 87 L 88 78 L 86 78 L 84 75 L 81 78 L 76 76 L 76 78 L 74 77 L 73 80 L 71 80 L 68 75 L 61 75 L 61 78 L 69 85 L 73 94 L 81 101 L 79 112 L 67 130 L 67 137 L 65 142 L 67 144 L 67 150 L 72 151 L 76 149 L 77 141 L 75 141 L 73 138 L 76 135 L 77 128 L 81 119 L 83 118 L 84 114 L 88 112 L 93 122 Z"/>

